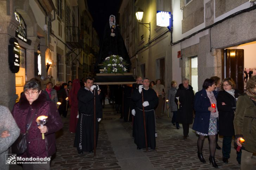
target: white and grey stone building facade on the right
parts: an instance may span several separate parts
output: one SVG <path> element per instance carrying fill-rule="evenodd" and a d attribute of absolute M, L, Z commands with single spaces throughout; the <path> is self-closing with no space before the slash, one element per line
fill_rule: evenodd
<path fill-rule="evenodd" d="M 256 40 L 254 34 L 255 4 L 247 0 L 184 0 L 172 1 L 173 6 L 173 77 L 191 79 L 191 58 L 197 58 L 197 76 L 191 82 L 200 90 L 206 78 L 213 75 L 221 79 L 233 76 L 228 73 L 228 55 L 225 49 Z M 182 60 L 177 58 L 181 50 Z M 237 67 L 243 73 L 243 66 Z M 178 74 L 176 74 L 178 73 Z M 236 76 L 232 77 L 237 79 Z M 236 80 L 237 84 L 243 78 Z"/>

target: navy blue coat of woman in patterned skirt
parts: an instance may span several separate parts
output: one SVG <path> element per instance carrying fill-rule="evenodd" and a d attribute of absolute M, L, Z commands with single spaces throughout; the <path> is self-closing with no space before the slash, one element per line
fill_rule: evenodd
<path fill-rule="evenodd" d="M 207 96 L 206 90 L 202 89 L 198 91 L 195 96 L 195 104 L 194 104 L 195 119 L 192 127 L 193 130 L 204 133 L 204 134 L 209 134 L 209 124 L 210 124 L 210 116 L 211 116 L 211 112 L 208 110 L 209 107 L 211 107 L 211 102 L 209 97 Z M 217 128 L 218 128 L 218 121 L 217 121 Z"/>

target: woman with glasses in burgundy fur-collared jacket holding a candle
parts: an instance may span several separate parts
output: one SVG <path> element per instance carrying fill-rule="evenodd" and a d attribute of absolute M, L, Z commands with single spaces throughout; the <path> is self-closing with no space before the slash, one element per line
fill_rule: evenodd
<path fill-rule="evenodd" d="M 47 101 L 45 93 L 41 93 L 40 85 L 35 81 L 28 81 L 24 85 L 23 95 L 14 105 L 12 115 L 20 128 L 20 133 L 25 134 L 27 125 L 31 126 L 27 132 L 27 150 L 20 155 L 22 158 L 46 158 L 47 163 L 23 164 L 23 169 L 50 169 L 51 156 L 56 152 L 55 132 L 63 127 L 55 103 Z M 47 123 L 38 126 L 38 116 L 48 116 Z M 45 139 L 42 139 L 44 133 Z"/>

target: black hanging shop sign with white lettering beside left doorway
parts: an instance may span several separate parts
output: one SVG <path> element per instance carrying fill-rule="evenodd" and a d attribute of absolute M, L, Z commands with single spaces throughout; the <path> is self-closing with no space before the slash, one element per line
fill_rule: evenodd
<path fill-rule="evenodd" d="M 20 48 L 17 39 L 10 38 L 8 45 L 8 62 L 12 73 L 18 73 L 20 70 Z"/>

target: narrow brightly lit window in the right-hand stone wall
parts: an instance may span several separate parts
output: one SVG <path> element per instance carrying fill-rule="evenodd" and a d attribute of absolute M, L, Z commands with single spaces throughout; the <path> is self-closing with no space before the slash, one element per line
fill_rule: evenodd
<path fill-rule="evenodd" d="M 197 56 L 190 57 L 190 84 L 193 87 L 194 92 L 198 91 L 198 62 Z"/>

